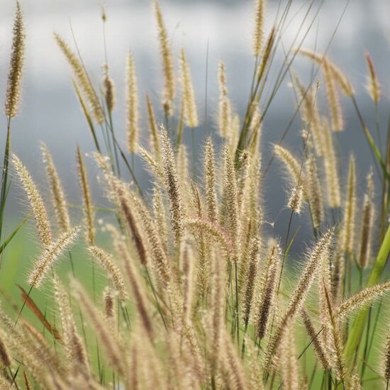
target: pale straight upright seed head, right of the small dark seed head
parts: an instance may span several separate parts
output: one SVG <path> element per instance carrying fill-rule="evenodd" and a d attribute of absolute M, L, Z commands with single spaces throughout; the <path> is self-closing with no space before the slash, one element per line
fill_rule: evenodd
<path fill-rule="evenodd" d="M 129 152 L 137 150 L 138 143 L 138 88 L 133 55 L 126 60 L 126 131 Z"/>

